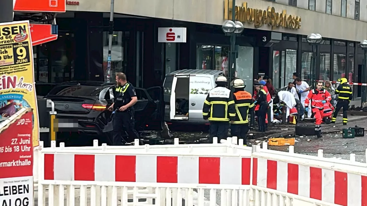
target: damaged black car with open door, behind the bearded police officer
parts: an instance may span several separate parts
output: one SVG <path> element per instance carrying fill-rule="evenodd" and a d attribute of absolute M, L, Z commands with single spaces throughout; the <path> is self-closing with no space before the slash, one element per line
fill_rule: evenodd
<path fill-rule="evenodd" d="M 102 130 L 110 121 L 111 112 L 107 108 L 113 103 L 115 88 L 116 84 L 98 81 L 63 82 L 55 85 L 43 99 L 52 100 L 57 118 L 62 122 L 74 122 L 70 125 L 77 125 L 79 134 L 98 135 L 104 141 L 106 134 Z M 135 129 L 162 130 L 163 87 L 135 90 L 138 97 L 134 105 Z"/>

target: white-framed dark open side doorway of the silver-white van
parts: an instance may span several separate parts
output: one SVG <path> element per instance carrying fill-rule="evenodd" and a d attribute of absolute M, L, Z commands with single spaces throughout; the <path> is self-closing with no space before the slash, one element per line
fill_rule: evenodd
<path fill-rule="evenodd" d="M 177 74 L 173 77 L 170 98 L 170 119 L 189 119 L 190 75 Z"/>

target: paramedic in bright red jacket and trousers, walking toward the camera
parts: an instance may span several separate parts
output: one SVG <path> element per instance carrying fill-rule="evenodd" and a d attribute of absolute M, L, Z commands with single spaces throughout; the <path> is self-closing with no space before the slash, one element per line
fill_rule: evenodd
<path fill-rule="evenodd" d="M 318 138 L 321 137 L 324 104 L 331 100 L 330 93 L 323 89 L 322 86 L 323 82 L 317 82 L 316 89 L 312 89 L 305 100 L 306 111 L 308 111 L 308 105 L 311 104 L 312 113 L 316 119 L 315 132 Z"/>

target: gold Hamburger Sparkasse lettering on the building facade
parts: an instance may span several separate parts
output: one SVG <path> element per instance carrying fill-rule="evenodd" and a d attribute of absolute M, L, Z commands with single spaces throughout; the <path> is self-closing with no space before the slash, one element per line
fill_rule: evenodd
<path fill-rule="evenodd" d="M 268 7 L 266 10 L 249 8 L 247 2 L 242 6 L 236 6 L 232 9 L 232 0 L 224 0 L 224 19 L 232 19 L 232 12 L 235 12 L 237 21 L 253 23 L 256 28 L 269 25 L 272 29 L 284 27 L 289 29 L 301 28 L 301 17 L 296 15 L 287 15 L 287 10 L 281 13 L 275 12 L 274 7 Z"/>

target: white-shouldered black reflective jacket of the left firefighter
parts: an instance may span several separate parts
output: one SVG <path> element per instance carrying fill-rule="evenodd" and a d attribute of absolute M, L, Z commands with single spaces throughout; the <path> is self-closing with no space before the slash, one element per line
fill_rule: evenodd
<path fill-rule="evenodd" d="M 215 87 L 208 93 L 203 106 L 203 118 L 209 121 L 233 121 L 236 116 L 235 101 L 231 91 Z"/>

